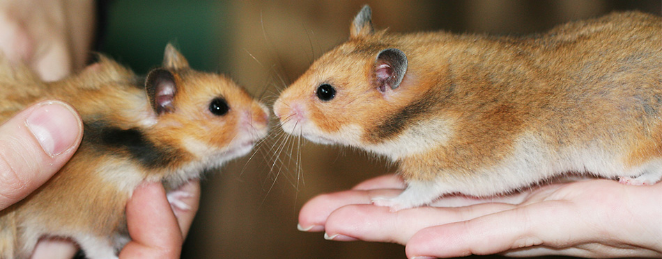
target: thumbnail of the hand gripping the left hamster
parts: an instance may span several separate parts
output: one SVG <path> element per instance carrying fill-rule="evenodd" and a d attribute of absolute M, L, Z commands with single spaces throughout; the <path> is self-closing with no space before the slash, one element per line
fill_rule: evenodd
<path fill-rule="evenodd" d="M 25 119 L 25 125 L 51 157 L 74 146 L 80 131 L 78 115 L 59 101 L 47 101 L 34 108 Z"/>

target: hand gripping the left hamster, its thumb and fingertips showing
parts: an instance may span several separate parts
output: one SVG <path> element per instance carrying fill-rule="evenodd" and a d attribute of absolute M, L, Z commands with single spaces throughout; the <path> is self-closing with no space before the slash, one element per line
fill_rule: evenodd
<path fill-rule="evenodd" d="M 2 124 L 0 210 L 53 176 L 71 158 L 81 139 L 80 118 L 71 106 L 60 101 L 36 103 Z M 192 194 L 182 199 L 190 210 L 172 210 L 160 183 L 143 183 L 134 191 L 126 206 L 132 241 L 123 248 L 120 258 L 179 257 L 200 197 L 197 181 L 181 188 Z M 76 251 L 66 240 L 42 240 L 32 258 L 72 258 Z"/>

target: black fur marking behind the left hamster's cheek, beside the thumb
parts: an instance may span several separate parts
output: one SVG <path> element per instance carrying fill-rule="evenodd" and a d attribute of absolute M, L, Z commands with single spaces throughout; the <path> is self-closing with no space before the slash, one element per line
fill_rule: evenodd
<path fill-rule="evenodd" d="M 121 129 L 104 122 L 84 124 L 83 142 L 114 156 L 127 156 L 148 169 L 167 167 L 178 158 L 168 147 L 157 147 L 138 128 Z"/>

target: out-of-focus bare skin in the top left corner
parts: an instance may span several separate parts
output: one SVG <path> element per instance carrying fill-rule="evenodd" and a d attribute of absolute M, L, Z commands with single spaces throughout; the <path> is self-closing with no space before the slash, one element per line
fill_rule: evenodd
<path fill-rule="evenodd" d="M 94 1 L 0 1 L 0 50 L 44 81 L 84 67 L 94 28 Z"/>

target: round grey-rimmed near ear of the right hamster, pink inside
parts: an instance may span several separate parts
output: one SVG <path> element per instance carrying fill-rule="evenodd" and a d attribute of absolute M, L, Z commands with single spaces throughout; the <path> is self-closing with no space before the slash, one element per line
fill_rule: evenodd
<path fill-rule="evenodd" d="M 375 60 L 375 78 L 377 89 L 385 92 L 386 87 L 395 90 L 402 83 L 407 72 L 407 56 L 399 49 L 384 49 Z"/>

